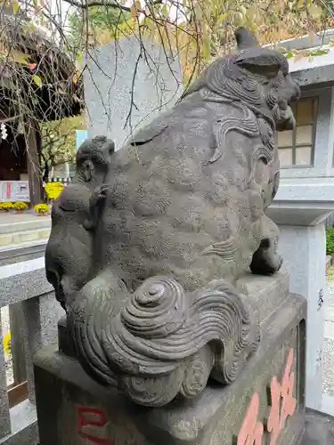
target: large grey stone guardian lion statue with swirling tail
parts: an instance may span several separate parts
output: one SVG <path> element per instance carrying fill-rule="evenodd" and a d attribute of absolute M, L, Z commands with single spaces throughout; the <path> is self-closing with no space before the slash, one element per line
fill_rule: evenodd
<path fill-rule="evenodd" d="M 281 53 L 246 29 L 236 38 L 239 51 L 131 143 L 102 164 L 103 143 L 88 153 L 77 189 L 89 193 L 53 206 L 46 271 L 77 357 L 150 407 L 199 394 L 208 377 L 235 380 L 259 341 L 238 279 L 281 267 L 265 209 L 279 183 L 274 134 L 294 125 L 299 90 Z"/>

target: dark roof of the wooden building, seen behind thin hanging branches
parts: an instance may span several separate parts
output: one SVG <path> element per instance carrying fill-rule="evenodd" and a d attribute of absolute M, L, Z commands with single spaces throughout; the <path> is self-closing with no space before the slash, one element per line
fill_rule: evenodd
<path fill-rule="evenodd" d="M 0 110 L 10 117 L 22 107 L 38 120 L 82 112 L 83 86 L 75 63 L 23 12 L 0 11 Z"/>

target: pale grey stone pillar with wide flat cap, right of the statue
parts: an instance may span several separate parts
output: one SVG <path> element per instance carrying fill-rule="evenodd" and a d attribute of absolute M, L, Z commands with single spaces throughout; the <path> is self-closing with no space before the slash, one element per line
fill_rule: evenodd
<path fill-rule="evenodd" d="M 327 183 L 327 186 L 326 186 Z M 318 188 L 319 187 L 319 188 Z M 330 182 L 317 188 L 281 182 L 268 215 L 280 226 L 280 251 L 290 275 L 290 292 L 307 300 L 306 406 L 322 406 L 322 348 L 326 300 L 325 219 L 334 210 L 334 187 Z M 322 197 L 313 190 L 322 190 Z M 319 199 L 319 200 L 318 200 Z"/>

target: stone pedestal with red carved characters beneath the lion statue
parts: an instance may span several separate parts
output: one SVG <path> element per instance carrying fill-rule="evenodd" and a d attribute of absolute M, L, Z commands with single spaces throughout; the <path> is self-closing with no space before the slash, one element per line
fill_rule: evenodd
<path fill-rule="evenodd" d="M 300 443 L 305 433 L 305 299 L 289 294 L 284 272 L 249 274 L 241 282 L 258 307 L 258 350 L 233 384 L 213 382 L 186 404 L 173 401 L 147 409 L 94 383 L 73 357 L 62 320 L 59 350 L 44 349 L 35 360 L 40 445 Z"/>

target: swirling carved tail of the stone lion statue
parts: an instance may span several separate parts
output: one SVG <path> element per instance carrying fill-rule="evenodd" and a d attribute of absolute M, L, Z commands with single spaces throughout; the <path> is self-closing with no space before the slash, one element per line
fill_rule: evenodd
<path fill-rule="evenodd" d="M 82 302 L 78 295 L 77 313 Z M 117 380 L 141 405 L 194 397 L 210 375 L 231 383 L 258 343 L 241 295 L 221 280 L 186 295 L 175 279 L 153 277 L 116 315 L 112 298 L 101 303 L 84 303 L 86 313 L 73 330 L 77 352 L 91 375 L 108 384 Z"/>

